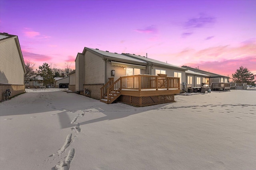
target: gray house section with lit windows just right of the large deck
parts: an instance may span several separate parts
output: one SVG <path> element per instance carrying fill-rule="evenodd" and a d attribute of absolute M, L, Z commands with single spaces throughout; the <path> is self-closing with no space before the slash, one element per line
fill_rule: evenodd
<path fill-rule="evenodd" d="M 204 84 L 209 84 L 209 75 L 195 72 L 192 70 L 186 71 L 186 87 L 201 87 Z"/>

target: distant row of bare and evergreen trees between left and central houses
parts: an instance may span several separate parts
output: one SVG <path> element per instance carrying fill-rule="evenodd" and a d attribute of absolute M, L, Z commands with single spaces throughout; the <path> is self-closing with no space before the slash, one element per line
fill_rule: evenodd
<path fill-rule="evenodd" d="M 73 71 L 70 68 L 71 63 L 65 63 L 66 68 L 56 68 L 55 64 L 44 63 L 42 66 L 38 66 L 38 69 L 35 69 L 35 63 L 30 61 L 25 63 L 26 73 L 24 75 L 24 83 L 32 80 L 37 80 L 38 75 L 42 77 L 42 80 L 37 80 L 42 82 L 44 86 L 54 83 L 55 77 L 66 77 L 67 74 Z"/>

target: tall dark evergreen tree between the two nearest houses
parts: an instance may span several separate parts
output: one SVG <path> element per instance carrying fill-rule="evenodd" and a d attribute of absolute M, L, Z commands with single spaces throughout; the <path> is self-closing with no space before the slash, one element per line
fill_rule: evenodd
<path fill-rule="evenodd" d="M 53 84 L 54 74 L 52 73 L 50 66 L 47 63 L 44 63 L 42 66 L 39 66 L 38 68 L 38 73 L 43 78 L 42 82 L 44 86 Z"/>

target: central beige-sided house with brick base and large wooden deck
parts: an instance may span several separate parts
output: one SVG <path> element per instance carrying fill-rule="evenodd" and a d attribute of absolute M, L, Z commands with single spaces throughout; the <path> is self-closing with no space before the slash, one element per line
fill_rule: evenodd
<path fill-rule="evenodd" d="M 147 106 L 174 102 L 174 94 L 180 93 L 180 83 L 185 81 L 185 70 L 146 57 L 142 60 L 85 47 L 76 57 L 76 71 L 70 74 L 76 75 L 72 81 L 80 94 L 108 104 L 120 96 L 121 102 Z"/>

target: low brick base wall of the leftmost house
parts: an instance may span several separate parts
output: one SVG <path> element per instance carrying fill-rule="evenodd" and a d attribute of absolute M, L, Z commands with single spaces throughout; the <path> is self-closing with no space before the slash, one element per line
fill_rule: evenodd
<path fill-rule="evenodd" d="M 25 92 L 25 85 L 14 85 L 14 84 L 0 84 L 0 101 L 3 101 L 5 99 L 4 92 L 10 89 L 11 96 L 9 98 L 16 96 L 18 94 Z"/>

